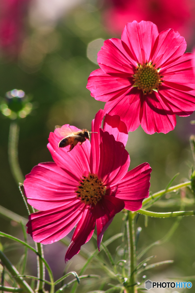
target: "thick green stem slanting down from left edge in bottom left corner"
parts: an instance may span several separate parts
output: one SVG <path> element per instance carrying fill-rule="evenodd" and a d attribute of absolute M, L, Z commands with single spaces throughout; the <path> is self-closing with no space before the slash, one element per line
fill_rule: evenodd
<path fill-rule="evenodd" d="M 34 291 L 27 284 L 27 282 L 23 279 L 23 277 L 18 276 L 18 275 L 20 275 L 20 273 L 18 272 L 18 270 L 16 270 L 16 268 L 12 265 L 12 263 L 8 260 L 8 258 L 6 257 L 6 255 L 2 251 L 0 251 L 0 259 L 1 259 L 2 263 L 6 266 L 7 270 L 14 277 L 14 279 L 16 280 L 18 285 L 20 285 L 20 287 L 22 289 L 24 289 L 24 292 L 34 293 Z"/>

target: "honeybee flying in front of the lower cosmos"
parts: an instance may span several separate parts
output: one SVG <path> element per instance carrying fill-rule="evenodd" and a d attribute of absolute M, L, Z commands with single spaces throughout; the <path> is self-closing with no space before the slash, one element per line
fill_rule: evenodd
<path fill-rule="evenodd" d="M 58 144 L 58 147 L 67 147 L 70 145 L 69 151 L 72 151 L 72 149 L 77 145 L 78 142 L 80 142 L 80 145 L 86 141 L 86 139 L 89 139 L 89 134 L 91 133 L 98 133 L 98 132 L 89 132 L 87 129 L 82 129 L 80 131 L 74 132 L 73 129 L 66 127 L 63 128 L 61 131 L 59 131 L 61 134 L 66 135 Z"/>

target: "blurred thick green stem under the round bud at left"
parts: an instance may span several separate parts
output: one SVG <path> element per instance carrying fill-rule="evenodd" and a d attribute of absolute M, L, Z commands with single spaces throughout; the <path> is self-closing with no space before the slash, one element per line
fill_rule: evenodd
<path fill-rule="evenodd" d="M 20 127 L 16 122 L 11 122 L 9 130 L 9 141 L 8 141 L 8 159 L 13 177 L 18 184 L 23 183 L 24 176 L 20 169 L 18 161 L 18 138 L 19 138 Z"/>

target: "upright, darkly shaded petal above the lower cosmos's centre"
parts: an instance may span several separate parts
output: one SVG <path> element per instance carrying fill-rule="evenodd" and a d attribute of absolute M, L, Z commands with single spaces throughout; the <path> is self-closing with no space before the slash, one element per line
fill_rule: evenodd
<path fill-rule="evenodd" d="M 118 182 L 127 173 L 130 157 L 122 142 L 100 129 L 100 163 L 98 177 L 108 186 Z"/>

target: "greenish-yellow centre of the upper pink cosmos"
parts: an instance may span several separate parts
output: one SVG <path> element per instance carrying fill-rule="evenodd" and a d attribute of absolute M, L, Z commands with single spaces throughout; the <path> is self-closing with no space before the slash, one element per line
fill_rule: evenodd
<path fill-rule="evenodd" d="M 134 85 L 138 89 L 142 90 L 144 95 L 146 93 L 152 93 L 152 91 L 158 91 L 158 87 L 162 84 L 163 75 L 159 74 L 160 68 L 155 68 L 156 64 L 153 62 L 138 63 L 136 72 L 133 75 Z"/>

